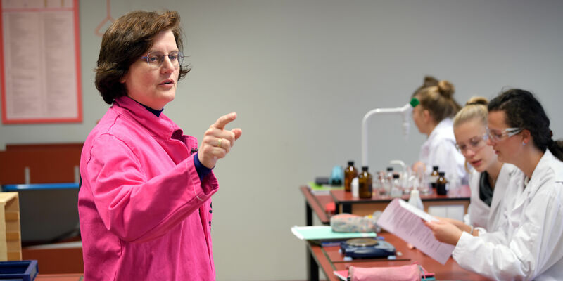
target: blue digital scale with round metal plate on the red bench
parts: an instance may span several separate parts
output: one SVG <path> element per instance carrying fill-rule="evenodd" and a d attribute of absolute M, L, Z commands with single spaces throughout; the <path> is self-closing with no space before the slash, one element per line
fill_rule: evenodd
<path fill-rule="evenodd" d="M 342 254 L 351 258 L 386 258 L 395 255 L 395 247 L 387 241 L 355 238 L 340 244 Z"/>

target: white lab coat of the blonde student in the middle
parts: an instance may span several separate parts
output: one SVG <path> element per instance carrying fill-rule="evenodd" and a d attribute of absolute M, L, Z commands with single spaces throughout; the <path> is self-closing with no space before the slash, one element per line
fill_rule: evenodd
<path fill-rule="evenodd" d="M 479 234 L 493 232 L 497 230 L 506 220 L 505 209 L 512 203 L 512 198 L 516 194 L 516 186 L 509 186 L 511 177 L 517 173 L 518 168 L 512 164 L 502 164 L 498 174 L 491 207 L 479 197 L 479 182 L 481 173 L 473 170 L 469 175 L 469 188 L 471 189 L 471 201 L 467 214 L 464 216 L 464 223 L 479 229 Z"/>

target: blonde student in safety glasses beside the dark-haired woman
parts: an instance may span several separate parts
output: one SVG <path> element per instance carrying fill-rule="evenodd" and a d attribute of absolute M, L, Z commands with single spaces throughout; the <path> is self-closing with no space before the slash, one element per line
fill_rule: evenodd
<path fill-rule="evenodd" d="M 473 167 L 471 202 L 463 222 L 442 218 L 475 236 L 495 231 L 505 221 L 505 206 L 514 195 L 509 182 L 518 169 L 498 161 L 493 147 L 487 145 L 487 104 L 486 98 L 471 98 L 453 119 L 457 150 L 465 157 L 466 168 L 467 164 Z"/>

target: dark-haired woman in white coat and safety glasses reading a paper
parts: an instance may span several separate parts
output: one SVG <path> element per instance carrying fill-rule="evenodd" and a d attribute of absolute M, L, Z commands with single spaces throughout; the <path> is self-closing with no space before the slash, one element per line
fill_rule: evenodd
<path fill-rule="evenodd" d="M 436 239 L 454 244 L 453 259 L 495 280 L 563 280 L 563 141 L 528 91 L 510 89 L 488 105 L 488 144 L 521 171 L 495 233 L 475 237 L 451 223 L 426 223 Z"/>

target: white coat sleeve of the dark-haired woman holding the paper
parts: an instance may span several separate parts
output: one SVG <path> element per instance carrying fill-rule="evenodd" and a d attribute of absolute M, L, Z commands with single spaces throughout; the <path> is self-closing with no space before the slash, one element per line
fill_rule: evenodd
<path fill-rule="evenodd" d="M 521 218 L 523 221 L 510 240 L 506 240 L 507 233 L 502 232 L 487 233 L 483 237 L 463 233 L 453 258 L 462 268 L 495 280 L 532 280 L 562 259 L 560 197 L 553 192 L 538 193 Z"/>

